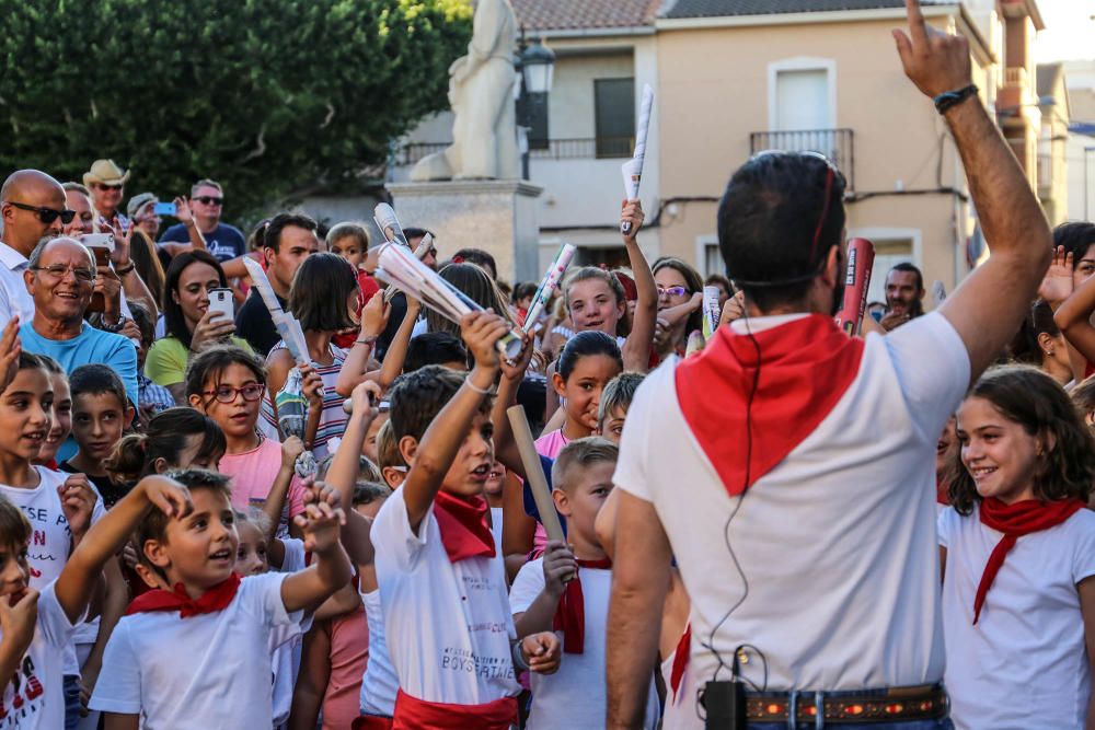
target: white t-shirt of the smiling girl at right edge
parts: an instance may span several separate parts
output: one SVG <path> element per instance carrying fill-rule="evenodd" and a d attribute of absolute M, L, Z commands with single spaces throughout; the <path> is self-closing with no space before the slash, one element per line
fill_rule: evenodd
<path fill-rule="evenodd" d="M 940 515 L 947 548 L 943 629 L 950 718 L 959 729 L 1082 728 L 1091 668 L 1076 583 L 1095 575 L 1095 512 L 1019 537 L 973 626 L 973 599 L 1003 536 L 977 508 Z"/>

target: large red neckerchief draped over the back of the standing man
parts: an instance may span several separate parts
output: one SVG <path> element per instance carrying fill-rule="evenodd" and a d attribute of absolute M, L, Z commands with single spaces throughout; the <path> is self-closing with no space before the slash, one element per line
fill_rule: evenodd
<path fill-rule="evenodd" d="M 758 346 L 747 470 L 746 414 Z M 862 339 L 845 335 L 832 317 L 811 314 L 751 336 L 719 327 L 700 355 L 677 366 L 681 413 L 731 497 L 814 432 L 855 380 L 862 359 Z"/>

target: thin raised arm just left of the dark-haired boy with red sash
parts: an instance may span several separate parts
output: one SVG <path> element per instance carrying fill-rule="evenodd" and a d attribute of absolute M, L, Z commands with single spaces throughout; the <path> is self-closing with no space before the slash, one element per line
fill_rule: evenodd
<path fill-rule="evenodd" d="M 338 505 L 346 514 L 346 526 L 342 531 L 343 546 L 349 553 L 349 559 L 358 566 L 372 564 L 372 541 L 369 538 L 371 523 L 354 511 L 354 485 L 357 484 L 361 444 L 365 443 L 369 426 L 377 417 L 373 403 L 379 402 L 381 395 L 380 386 L 368 380 L 354 389 L 353 413 L 325 479 L 326 485 L 337 493 Z"/>

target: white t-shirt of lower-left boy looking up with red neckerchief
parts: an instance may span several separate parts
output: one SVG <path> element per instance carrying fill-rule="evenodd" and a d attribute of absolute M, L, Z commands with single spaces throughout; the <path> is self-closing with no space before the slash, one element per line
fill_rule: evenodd
<path fill-rule="evenodd" d="M 146 730 L 273 727 L 272 629 L 301 616 L 285 610 L 285 578 L 244 578 L 216 613 L 123 616 L 106 645 L 91 708 L 140 712 Z"/>

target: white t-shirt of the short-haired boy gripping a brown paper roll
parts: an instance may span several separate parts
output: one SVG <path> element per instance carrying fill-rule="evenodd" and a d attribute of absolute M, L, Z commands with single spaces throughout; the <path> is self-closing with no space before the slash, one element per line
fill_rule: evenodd
<path fill-rule="evenodd" d="M 609 594 L 612 592 L 612 571 L 581 568 L 581 598 L 586 615 L 586 636 L 583 653 L 563 653 L 558 671 L 554 674 L 529 674 L 532 685 L 532 708 L 529 711 L 529 730 L 603 727 L 607 711 L 607 680 L 604 676 L 604 639 L 608 634 Z M 521 566 L 509 591 L 509 605 L 515 614 L 525 613 L 544 590 L 543 558 Z M 563 633 L 557 631 L 560 640 Z M 650 674 L 650 690 L 646 702 L 646 722 L 653 730 L 658 726 L 658 693 Z"/>

